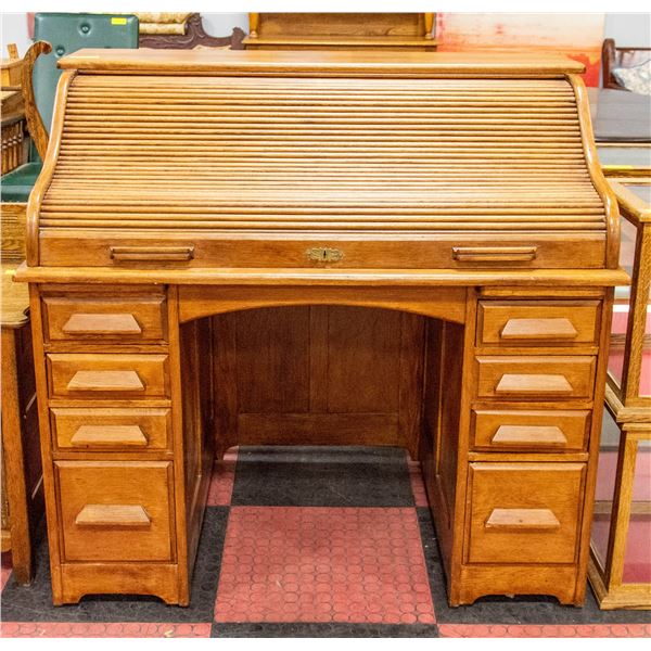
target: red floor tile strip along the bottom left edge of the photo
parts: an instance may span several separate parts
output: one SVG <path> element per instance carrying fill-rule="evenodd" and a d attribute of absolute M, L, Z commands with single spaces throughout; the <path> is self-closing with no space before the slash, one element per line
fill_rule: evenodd
<path fill-rule="evenodd" d="M 210 637 L 210 624 L 3 622 L 0 624 L 0 637 L 207 638 Z"/>

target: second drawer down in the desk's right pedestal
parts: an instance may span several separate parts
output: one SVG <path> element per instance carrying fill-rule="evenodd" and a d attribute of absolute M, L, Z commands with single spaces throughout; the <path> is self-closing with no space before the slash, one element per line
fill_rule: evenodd
<path fill-rule="evenodd" d="M 477 357 L 480 398 L 506 400 L 589 399 L 595 384 L 596 358 Z"/>

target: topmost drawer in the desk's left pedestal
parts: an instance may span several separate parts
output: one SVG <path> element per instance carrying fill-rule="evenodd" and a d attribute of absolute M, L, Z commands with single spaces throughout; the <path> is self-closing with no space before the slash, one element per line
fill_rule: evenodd
<path fill-rule="evenodd" d="M 128 298 L 43 298 L 48 341 L 164 342 L 167 340 L 163 296 Z"/>

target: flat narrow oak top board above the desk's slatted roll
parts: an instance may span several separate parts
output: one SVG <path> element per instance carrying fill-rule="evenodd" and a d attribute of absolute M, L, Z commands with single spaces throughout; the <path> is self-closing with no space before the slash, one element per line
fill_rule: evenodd
<path fill-rule="evenodd" d="M 580 74 L 566 56 L 531 52 L 376 52 L 265 50 L 85 49 L 59 61 L 63 69 L 94 73 L 527 75 Z"/>

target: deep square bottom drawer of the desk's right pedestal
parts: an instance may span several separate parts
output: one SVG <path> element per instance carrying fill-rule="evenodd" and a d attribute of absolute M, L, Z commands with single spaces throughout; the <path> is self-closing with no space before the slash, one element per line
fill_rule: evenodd
<path fill-rule="evenodd" d="M 585 463 L 471 463 L 469 563 L 574 563 Z"/>

